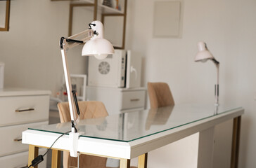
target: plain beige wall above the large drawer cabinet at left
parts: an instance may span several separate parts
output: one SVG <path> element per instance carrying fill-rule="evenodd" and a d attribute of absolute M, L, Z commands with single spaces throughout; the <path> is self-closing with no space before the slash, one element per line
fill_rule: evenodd
<path fill-rule="evenodd" d="M 68 36 L 69 4 L 11 1 L 10 30 L 0 31 L 5 87 L 51 90 L 56 95 L 63 82 L 59 41 L 61 36 Z M 85 57 L 80 57 L 79 48 L 68 52 L 68 62 L 71 73 L 85 73 Z"/>

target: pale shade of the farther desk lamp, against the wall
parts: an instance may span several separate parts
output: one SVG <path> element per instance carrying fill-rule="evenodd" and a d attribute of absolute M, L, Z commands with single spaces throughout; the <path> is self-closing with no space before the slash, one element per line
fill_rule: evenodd
<path fill-rule="evenodd" d="M 196 54 L 195 62 L 206 62 L 208 59 L 215 59 L 215 57 L 213 57 L 212 53 L 207 49 L 205 42 L 198 42 L 198 53 Z"/>

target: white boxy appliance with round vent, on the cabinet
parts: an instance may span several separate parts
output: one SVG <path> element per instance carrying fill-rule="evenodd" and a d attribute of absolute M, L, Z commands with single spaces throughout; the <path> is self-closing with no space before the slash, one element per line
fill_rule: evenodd
<path fill-rule="evenodd" d="M 89 57 L 88 85 L 140 87 L 141 56 L 131 50 L 115 50 L 105 59 Z"/>

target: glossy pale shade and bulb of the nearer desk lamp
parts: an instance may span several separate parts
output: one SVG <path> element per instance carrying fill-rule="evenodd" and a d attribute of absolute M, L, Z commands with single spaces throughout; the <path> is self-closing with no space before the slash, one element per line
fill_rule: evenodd
<path fill-rule="evenodd" d="M 100 21 L 94 21 L 91 24 L 96 34 L 84 44 L 82 56 L 94 55 L 97 59 L 104 59 L 115 52 L 113 45 L 103 38 L 103 24 Z"/>

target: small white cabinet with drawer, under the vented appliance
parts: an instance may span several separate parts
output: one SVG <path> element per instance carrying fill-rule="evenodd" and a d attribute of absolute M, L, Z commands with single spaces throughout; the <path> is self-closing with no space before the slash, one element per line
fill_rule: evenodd
<path fill-rule="evenodd" d="M 87 100 L 101 101 L 108 114 L 142 110 L 145 106 L 146 88 L 115 88 L 87 86 Z"/>

